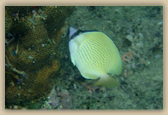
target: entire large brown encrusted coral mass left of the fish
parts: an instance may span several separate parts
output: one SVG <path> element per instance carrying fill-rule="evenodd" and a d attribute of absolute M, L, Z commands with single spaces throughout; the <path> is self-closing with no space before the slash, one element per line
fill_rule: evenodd
<path fill-rule="evenodd" d="M 50 93 L 61 72 L 58 48 L 72 11 L 73 7 L 5 7 L 6 106 L 33 103 Z"/>

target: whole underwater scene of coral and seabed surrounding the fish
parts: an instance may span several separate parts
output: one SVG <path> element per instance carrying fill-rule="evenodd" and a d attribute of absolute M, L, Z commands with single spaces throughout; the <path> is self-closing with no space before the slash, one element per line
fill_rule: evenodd
<path fill-rule="evenodd" d="M 120 86 L 93 86 L 72 64 L 68 28 L 108 35 Z M 163 109 L 162 6 L 6 6 L 6 109 Z"/>

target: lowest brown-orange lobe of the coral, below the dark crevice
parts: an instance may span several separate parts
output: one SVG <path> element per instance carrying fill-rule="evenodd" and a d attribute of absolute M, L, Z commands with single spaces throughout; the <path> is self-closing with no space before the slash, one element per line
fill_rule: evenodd
<path fill-rule="evenodd" d="M 52 64 L 43 66 L 37 73 L 28 74 L 27 78 L 13 71 L 6 72 L 6 103 L 16 103 L 26 99 L 35 100 L 50 93 L 52 79 L 55 74 L 59 74 L 60 67 L 58 60 L 50 63 Z M 19 79 L 23 79 L 20 84 L 17 83 Z"/>

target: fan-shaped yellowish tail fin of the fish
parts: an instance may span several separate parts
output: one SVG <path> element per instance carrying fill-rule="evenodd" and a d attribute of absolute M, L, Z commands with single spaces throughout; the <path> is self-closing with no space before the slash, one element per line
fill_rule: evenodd
<path fill-rule="evenodd" d="M 100 79 L 94 85 L 104 87 L 116 87 L 119 86 L 120 83 L 112 77 L 110 77 L 109 75 L 105 75 L 100 77 Z"/>

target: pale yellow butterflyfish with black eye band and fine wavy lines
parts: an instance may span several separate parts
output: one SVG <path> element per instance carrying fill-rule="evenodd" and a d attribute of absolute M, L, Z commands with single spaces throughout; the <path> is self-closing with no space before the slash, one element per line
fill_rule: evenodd
<path fill-rule="evenodd" d="M 119 75 L 122 60 L 113 41 L 99 31 L 69 29 L 69 51 L 72 63 L 86 79 L 98 79 L 94 84 L 105 87 L 120 85 L 109 74 Z"/>

